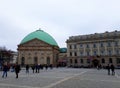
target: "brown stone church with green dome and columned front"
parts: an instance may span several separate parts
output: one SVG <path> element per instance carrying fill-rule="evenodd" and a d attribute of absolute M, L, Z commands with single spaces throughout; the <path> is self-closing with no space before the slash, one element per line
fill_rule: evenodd
<path fill-rule="evenodd" d="M 28 34 L 18 45 L 18 63 L 26 64 L 52 64 L 56 66 L 59 46 L 52 36 L 43 30 L 36 30 Z"/>

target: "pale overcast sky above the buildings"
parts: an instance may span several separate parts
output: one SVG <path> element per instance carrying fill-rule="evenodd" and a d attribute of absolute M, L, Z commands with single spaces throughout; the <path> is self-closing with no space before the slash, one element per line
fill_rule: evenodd
<path fill-rule="evenodd" d="M 120 0 L 0 0 L 0 46 L 17 51 L 41 28 L 59 47 L 69 36 L 120 30 Z"/>

